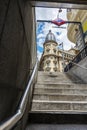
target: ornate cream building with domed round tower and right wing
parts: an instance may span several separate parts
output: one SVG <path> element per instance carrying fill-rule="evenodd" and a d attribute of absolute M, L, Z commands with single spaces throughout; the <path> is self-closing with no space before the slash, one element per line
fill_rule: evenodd
<path fill-rule="evenodd" d="M 66 64 L 75 57 L 75 53 L 58 49 L 58 43 L 51 30 L 46 36 L 43 48 L 40 70 L 45 72 L 62 72 Z"/>

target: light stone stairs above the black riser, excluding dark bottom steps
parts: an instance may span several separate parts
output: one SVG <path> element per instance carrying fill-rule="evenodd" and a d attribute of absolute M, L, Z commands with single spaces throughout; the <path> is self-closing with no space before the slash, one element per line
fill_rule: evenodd
<path fill-rule="evenodd" d="M 38 72 L 30 113 L 85 113 L 87 85 L 60 72 Z"/>

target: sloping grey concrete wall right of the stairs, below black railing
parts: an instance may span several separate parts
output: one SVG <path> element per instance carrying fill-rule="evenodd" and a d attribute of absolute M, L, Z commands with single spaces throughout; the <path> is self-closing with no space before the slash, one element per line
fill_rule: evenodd
<path fill-rule="evenodd" d="M 78 64 L 87 68 L 87 57 L 85 57 L 83 60 L 81 60 Z M 78 66 L 74 66 L 69 70 L 68 73 L 74 74 L 75 76 L 82 79 L 85 83 L 87 83 L 87 70 L 80 68 Z"/>

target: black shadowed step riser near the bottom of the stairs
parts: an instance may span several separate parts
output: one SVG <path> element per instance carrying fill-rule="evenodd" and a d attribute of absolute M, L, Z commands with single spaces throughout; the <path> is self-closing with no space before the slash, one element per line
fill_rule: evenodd
<path fill-rule="evenodd" d="M 55 111 L 55 110 L 54 110 Z M 81 111 L 81 110 L 73 110 L 73 111 L 46 111 L 46 110 L 38 110 L 38 111 L 30 111 L 29 112 L 29 118 L 28 122 L 29 124 L 35 123 L 35 124 L 50 124 L 51 127 L 49 129 L 47 128 L 40 128 L 40 130 L 87 130 L 84 129 L 84 126 L 87 124 L 87 111 Z M 52 127 L 52 124 L 56 127 L 58 125 L 58 128 Z M 66 127 L 67 124 L 69 124 L 70 127 Z M 73 126 L 73 124 L 79 124 L 79 128 Z M 81 124 L 84 124 L 84 126 L 81 127 Z M 60 125 L 62 125 L 63 129 L 60 129 Z M 32 129 L 36 130 L 38 127 Z M 29 127 L 29 130 L 30 127 Z"/>

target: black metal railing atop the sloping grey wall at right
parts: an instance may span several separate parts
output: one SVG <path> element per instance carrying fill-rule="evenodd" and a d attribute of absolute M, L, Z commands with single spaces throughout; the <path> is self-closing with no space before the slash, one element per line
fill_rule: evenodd
<path fill-rule="evenodd" d="M 78 65 L 77 63 L 83 60 L 86 56 L 87 56 L 87 46 L 85 46 L 85 48 L 81 52 L 79 52 L 79 54 L 72 61 L 70 61 L 70 63 L 64 68 L 64 72 L 70 70 L 74 65 Z M 78 66 L 80 68 L 86 69 L 85 67 L 82 67 L 80 65 Z"/>

